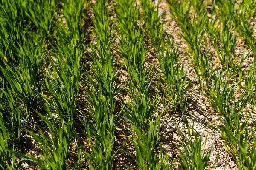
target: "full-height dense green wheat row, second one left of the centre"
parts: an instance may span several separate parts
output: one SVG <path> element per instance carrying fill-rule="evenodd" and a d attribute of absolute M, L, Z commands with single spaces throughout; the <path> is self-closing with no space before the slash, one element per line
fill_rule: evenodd
<path fill-rule="evenodd" d="M 47 94 L 41 94 L 45 114 L 38 113 L 47 133 L 37 124 L 39 133 L 28 130 L 43 150 L 43 157 L 26 157 L 40 169 L 77 167 L 81 156 L 79 144 L 77 155 L 73 154 L 73 145 L 77 141 L 75 120 L 79 113 L 82 45 L 87 34 L 82 22 L 86 6 L 84 1 L 72 1 L 61 3 L 61 7 L 62 17 L 49 44 L 52 51 L 45 79 Z"/>

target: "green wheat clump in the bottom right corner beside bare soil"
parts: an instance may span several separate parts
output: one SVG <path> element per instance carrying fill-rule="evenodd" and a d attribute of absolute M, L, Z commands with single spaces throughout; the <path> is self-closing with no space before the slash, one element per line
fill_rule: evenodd
<path fill-rule="evenodd" d="M 226 113 L 228 116 L 220 116 L 221 126 L 215 124 L 213 127 L 221 133 L 224 139 L 226 150 L 236 160 L 239 169 L 253 169 L 255 164 L 255 136 L 254 132 L 248 129 L 248 119 L 246 116 L 245 121 L 241 122 L 240 116 L 244 110 L 250 93 L 245 97 L 241 95 L 235 104 L 227 104 Z M 244 99 L 243 102 L 241 102 Z M 239 107 L 239 104 L 241 106 Z"/>

